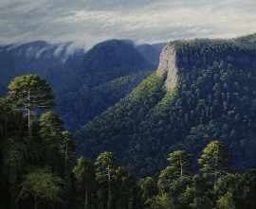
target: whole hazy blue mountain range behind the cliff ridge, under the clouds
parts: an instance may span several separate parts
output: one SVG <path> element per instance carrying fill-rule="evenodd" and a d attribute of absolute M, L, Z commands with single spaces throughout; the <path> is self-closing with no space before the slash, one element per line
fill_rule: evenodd
<path fill-rule="evenodd" d="M 65 125 L 76 130 L 126 96 L 155 70 L 161 46 L 110 40 L 87 52 L 72 43 L 0 45 L 0 95 L 9 80 L 37 74 L 51 84 Z"/>

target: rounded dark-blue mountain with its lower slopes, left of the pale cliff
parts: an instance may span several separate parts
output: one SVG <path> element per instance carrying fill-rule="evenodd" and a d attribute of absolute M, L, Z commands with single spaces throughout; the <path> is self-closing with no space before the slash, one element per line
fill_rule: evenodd
<path fill-rule="evenodd" d="M 130 93 L 153 69 L 153 64 L 146 61 L 131 41 L 96 44 L 85 54 L 82 68 L 76 73 L 79 78 L 75 82 L 80 87 L 59 96 L 58 113 L 67 127 L 80 128 Z"/>

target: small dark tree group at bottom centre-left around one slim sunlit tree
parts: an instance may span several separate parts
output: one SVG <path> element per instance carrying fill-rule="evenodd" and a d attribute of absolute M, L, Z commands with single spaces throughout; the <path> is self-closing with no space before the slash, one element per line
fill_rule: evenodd
<path fill-rule="evenodd" d="M 76 201 L 82 208 L 142 207 L 141 190 L 136 178 L 116 164 L 112 152 L 101 153 L 94 163 L 85 157 L 79 158 L 73 172 L 77 184 Z"/>

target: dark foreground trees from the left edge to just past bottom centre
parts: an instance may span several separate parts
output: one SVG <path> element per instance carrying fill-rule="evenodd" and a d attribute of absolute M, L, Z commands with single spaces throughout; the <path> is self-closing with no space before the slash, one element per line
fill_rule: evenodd
<path fill-rule="evenodd" d="M 53 104 L 50 86 L 35 75 L 14 78 L 0 98 L 0 208 L 140 209 L 137 179 L 112 152 L 76 160 Z"/>

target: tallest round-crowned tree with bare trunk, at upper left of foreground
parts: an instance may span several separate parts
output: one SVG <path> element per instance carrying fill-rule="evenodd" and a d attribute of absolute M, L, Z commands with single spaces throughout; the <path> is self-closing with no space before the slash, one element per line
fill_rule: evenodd
<path fill-rule="evenodd" d="M 18 108 L 27 113 L 28 131 L 31 125 L 31 112 L 45 110 L 54 105 L 50 86 L 45 79 L 36 75 L 14 78 L 9 83 L 9 98 Z"/>

